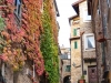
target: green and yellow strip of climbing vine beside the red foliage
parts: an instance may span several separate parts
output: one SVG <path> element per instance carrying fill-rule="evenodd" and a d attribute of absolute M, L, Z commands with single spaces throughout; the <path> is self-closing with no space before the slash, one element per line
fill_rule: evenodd
<path fill-rule="evenodd" d="M 48 72 L 49 83 L 59 83 L 59 63 L 58 63 L 58 44 L 56 39 L 58 32 L 56 29 L 56 21 L 53 21 L 54 15 L 52 12 L 51 0 L 44 0 L 43 3 L 43 33 L 41 35 L 41 51 L 44 59 L 44 68 Z M 52 19 L 53 18 L 53 19 Z"/>

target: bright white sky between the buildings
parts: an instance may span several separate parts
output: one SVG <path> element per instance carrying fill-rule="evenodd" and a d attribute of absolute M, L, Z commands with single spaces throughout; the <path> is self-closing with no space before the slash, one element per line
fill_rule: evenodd
<path fill-rule="evenodd" d="M 69 18 L 75 14 L 72 3 L 78 0 L 57 0 L 60 17 L 57 18 L 60 30 L 59 30 L 59 45 L 70 48 L 70 25 Z"/>

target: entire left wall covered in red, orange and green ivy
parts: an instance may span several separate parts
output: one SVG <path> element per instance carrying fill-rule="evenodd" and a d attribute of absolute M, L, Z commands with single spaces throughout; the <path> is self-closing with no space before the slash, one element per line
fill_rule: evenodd
<path fill-rule="evenodd" d="M 0 0 L 0 60 L 13 71 L 21 71 L 27 61 L 31 62 L 30 65 L 34 65 L 31 70 L 37 75 L 41 76 L 46 72 L 48 83 L 59 83 L 58 28 L 53 0 L 43 0 L 42 13 L 41 1 L 22 0 L 22 18 L 18 25 L 13 0 Z M 37 83 L 33 77 L 32 82 Z"/>

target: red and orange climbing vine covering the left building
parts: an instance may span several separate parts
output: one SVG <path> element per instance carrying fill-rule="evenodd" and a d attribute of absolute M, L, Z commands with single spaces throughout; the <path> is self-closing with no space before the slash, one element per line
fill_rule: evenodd
<path fill-rule="evenodd" d="M 19 70 L 27 60 L 33 62 L 38 75 L 44 72 L 40 51 L 41 0 L 22 0 L 20 22 L 16 21 L 13 0 L 0 0 L 0 59 Z"/>

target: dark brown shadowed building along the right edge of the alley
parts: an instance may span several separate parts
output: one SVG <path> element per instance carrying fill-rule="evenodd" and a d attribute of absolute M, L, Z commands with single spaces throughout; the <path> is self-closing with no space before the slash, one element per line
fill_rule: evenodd
<path fill-rule="evenodd" d="M 111 0 L 88 0 L 95 34 L 99 83 L 111 83 Z"/>

